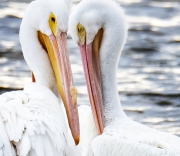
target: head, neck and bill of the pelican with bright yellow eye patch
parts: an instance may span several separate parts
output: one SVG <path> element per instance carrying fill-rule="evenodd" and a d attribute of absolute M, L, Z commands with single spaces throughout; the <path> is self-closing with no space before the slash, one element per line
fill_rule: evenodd
<path fill-rule="evenodd" d="M 77 91 L 73 84 L 66 37 L 68 7 L 60 0 L 36 0 L 26 9 L 20 27 L 24 58 L 36 83 L 61 96 L 76 144 L 79 142 Z"/>

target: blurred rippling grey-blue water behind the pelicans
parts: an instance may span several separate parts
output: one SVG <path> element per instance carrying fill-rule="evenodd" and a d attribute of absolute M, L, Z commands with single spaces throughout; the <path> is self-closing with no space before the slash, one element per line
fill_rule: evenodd
<path fill-rule="evenodd" d="M 0 0 L 0 94 L 31 81 L 19 43 L 27 0 Z M 72 9 L 79 1 L 73 1 Z M 118 91 L 126 114 L 180 136 L 180 1 L 119 0 L 129 23 L 119 61 Z M 118 20 L 118 19 L 117 19 Z M 78 104 L 89 104 L 80 54 L 68 36 Z"/>

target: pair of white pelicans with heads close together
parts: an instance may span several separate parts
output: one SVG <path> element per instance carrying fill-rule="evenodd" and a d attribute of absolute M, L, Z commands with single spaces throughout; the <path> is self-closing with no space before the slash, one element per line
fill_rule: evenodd
<path fill-rule="evenodd" d="M 110 0 L 83 0 L 69 19 L 93 112 L 80 106 L 78 113 L 66 48 L 69 5 L 36 0 L 25 12 L 20 42 L 35 83 L 0 96 L 0 156 L 180 155 L 179 137 L 132 121 L 122 110 L 116 69 L 127 25 Z"/>

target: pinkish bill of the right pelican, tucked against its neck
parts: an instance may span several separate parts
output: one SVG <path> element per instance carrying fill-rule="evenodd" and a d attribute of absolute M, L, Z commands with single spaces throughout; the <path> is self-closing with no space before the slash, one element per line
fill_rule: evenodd
<path fill-rule="evenodd" d="M 86 45 L 79 45 L 83 69 L 86 77 L 86 85 L 88 88 L 89 99 L 98 130 L 98 134 L 102 134 L 104 128 L 102 86 L 99 48 L 102 39 L 102 30 L 98 32 L 94 41 Z"/>

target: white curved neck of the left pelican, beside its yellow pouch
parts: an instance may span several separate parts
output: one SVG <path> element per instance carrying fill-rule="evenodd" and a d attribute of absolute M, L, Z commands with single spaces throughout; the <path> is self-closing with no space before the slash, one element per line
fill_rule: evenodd
<path fill-rule="evenodd" d="M 36 83 L 48 87 L 59 97 L 55 74 L 48 54 L 39 42 L 37 30 L 29 24 L 26 18 L 21 23 L 19 37 L 24 58 L 35 76 Z"/>

